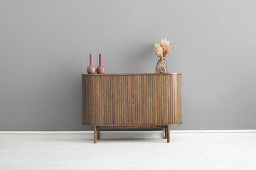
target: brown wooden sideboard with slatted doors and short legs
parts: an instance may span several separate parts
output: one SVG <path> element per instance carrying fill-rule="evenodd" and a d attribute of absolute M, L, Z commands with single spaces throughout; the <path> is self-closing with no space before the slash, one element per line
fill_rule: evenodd
<path fill-rule="evenodd" d="M 100 129 L 181 125 L 181 73 L 82 74 L 82 125 Z"/>

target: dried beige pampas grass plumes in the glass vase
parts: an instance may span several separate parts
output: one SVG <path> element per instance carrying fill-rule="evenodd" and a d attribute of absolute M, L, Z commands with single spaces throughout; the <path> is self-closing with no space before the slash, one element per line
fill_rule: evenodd
<path fill-rule="evenodd" d="M 154 44 L 156 57 L 164 58 L 171 53 L 169 41 L 161 39 L 160 44 Z"/>

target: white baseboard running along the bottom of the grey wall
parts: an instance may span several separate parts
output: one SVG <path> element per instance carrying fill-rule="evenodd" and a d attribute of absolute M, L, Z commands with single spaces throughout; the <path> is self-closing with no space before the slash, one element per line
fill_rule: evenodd
<path fill-rule="evenodd" d="M 159 130 L 132 130 L 132 131 L 101 131 L 101 133 L 159 133 Z M 256 132 L 256 130 L 170 130 L 170 133 L 235 133 L 235 132 Z M 0 131 L 0 134 L 88 134 L 87 131 Z"/>

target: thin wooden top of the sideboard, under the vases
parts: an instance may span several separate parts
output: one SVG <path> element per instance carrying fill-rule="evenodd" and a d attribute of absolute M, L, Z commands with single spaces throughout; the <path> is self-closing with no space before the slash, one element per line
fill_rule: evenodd
<path fill-rule="evenodd" d="M 131 75 L 181 75 L 182 73 L 122 73 L 122 74 L 81 74 L 85 76 L 131 76 Z"/>

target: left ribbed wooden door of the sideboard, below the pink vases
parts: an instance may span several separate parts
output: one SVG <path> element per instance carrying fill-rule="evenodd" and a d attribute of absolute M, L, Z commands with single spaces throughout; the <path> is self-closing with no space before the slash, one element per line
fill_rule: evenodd
<path fill-rule="evenodd" d="M 128 125 L 131 119 L 131 76 L 96 75 L 82 79 L 83 123 Z"/>

